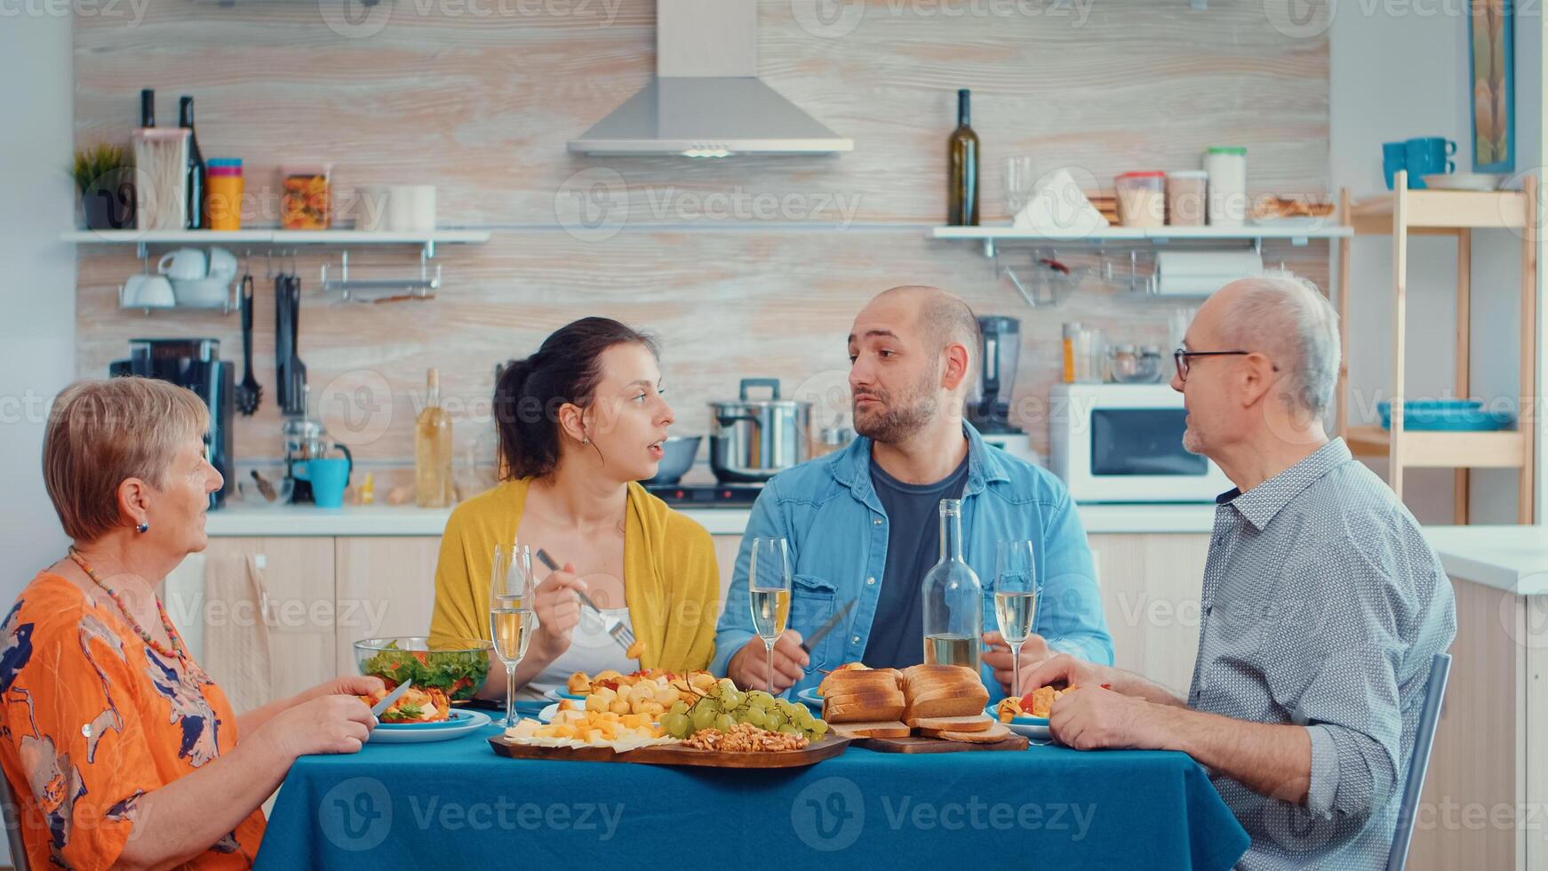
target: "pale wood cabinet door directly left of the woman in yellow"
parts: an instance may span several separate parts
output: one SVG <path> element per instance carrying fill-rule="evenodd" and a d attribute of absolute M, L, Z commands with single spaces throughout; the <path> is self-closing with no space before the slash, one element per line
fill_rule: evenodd
<path fill-rule="evenodd" d="M 354 642 L 430 633 L 441 537 L 359 535 L 333 541 L 339 614 L 336 668 L 339 675 L 353 675 Z"/>

